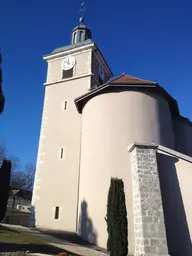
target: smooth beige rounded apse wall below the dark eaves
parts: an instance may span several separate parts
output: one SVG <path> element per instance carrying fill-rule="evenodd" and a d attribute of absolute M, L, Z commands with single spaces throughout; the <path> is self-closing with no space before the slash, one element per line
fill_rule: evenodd
<path fill-rule="evenodd" d="M 152 141 L 174 148 L 172 118 L 169 105 L 162 96 L 144 91 L 121 91 L 95 96 L 86 103 L 82 113 L 79 219 L 82 218 L 81 207 L 84 203 L 92 231 L 79 231 L 85 239 L 96 237 L 97 244 L 106 247 L 104 217 L 111 177 L 124 181 L 129 239 L 134 239 L 131 233 L 132 190 L 128 146 L 133 142 Z"/>

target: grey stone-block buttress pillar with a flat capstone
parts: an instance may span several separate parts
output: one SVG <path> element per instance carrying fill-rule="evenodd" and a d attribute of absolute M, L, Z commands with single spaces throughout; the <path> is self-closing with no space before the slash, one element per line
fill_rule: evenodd
<path fill-rule="evenodd" d="M 132 166 L 135 256 L 168 256 L 156 145 L 129 147 Z"/>

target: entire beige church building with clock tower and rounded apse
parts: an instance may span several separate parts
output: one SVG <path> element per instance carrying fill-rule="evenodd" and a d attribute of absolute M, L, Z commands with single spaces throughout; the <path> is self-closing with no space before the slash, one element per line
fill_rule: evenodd
<path fill-rule="evenodd" d="M 30 224 L 77 232 L 106 247 L 107 194 L 111 177 L 118 177 L 130 253 L 191 255 L 192 123 L 159 84 L 126 74 L 112 79 L 91 37 L 81 23 L 71 45 L 44 56 Z"/>

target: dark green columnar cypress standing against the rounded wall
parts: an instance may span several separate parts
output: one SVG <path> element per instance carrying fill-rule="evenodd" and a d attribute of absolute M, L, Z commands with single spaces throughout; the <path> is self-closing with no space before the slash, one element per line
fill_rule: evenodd
<path fill-rule="evenodd" d="M 121 179 L 111 178 L 107 202 L 107 250 L 110 256 L 128 254 L 127 210 L 124 184 Z"/>

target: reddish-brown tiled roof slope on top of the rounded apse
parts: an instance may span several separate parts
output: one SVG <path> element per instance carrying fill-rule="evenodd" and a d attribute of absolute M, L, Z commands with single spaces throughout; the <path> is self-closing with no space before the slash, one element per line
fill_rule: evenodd
<path fill-rule="evenodd" d="M 122 75 L 118 76 L 117 78 L 112 79 L 109 81 L 110 84 L 148 84 L 154 85 L 155 82 L 151 82 L 149 80 L 144 80 L 134 76 L 128 76 L 127 74 L 123 73 Z"/>

